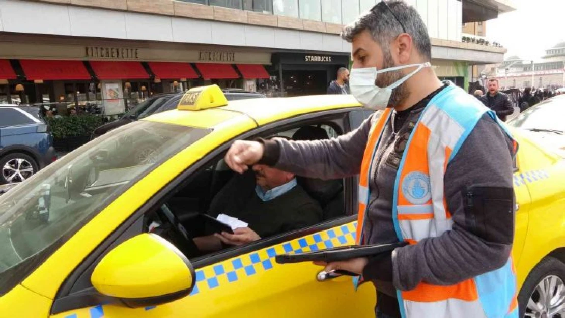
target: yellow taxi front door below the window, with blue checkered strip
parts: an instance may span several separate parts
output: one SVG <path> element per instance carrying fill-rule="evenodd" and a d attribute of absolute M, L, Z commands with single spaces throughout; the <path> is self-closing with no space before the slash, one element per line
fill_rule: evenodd
<path fill-rule="evenodd" d="M 355 243 L 356 222 L 351 217 L 328 225 L 331 227 L 197 268 L 192 293 L 175 302 L 136 309 L 101 304 L 52 317 L 374 317 L 371 284 L 354 291 L 349 276 L 318 281 L 321 267 L 275 262 L 279 254 Z"/>

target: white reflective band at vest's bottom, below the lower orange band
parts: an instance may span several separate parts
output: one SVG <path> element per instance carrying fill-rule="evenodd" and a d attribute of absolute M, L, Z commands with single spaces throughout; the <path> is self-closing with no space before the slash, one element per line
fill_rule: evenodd
<path fill-rule="evenodd" d="M 404 309 L 407 318 L 453 318 L 472 317 L 486 318 L 480 301 L 450 298 L 441 302 L 412 302 L 404 301 Z"/>

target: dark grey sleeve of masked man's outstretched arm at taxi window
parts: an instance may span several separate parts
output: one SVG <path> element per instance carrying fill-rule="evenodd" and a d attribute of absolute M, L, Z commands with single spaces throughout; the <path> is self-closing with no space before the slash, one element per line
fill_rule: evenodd
<path fill-rule="evenodd" d="M 331 140 L 289 141 L 275 138 L 280 154 L 275 167 L 298 176 L 336 179 L 357 175 L 361 169 L 368 134 L 376 116 L 355 130 Z M 266 151 L 272 151 L 266 147 Z M 265 154 L 269 156 L 269 154 Z"/>

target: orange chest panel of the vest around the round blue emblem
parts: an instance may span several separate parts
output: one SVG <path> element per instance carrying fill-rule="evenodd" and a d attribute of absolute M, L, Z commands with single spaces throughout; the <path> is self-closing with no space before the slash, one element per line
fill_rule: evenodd
<path fill-rule="evenodd" d="M 406 175 L 410 172 L 418 171 L 428 175 L 428 160 L 427 158 L 427 145 L 431 131 L 422 124 L 418 124 L 414 130 L 412 141 L 405 150 L 405 162 L 402 171 L 400 172 L 400 180 L 404 180 Z M 431 201 L 429 201 L 431 202 Z M 428 203 L 429 203 L 428 202 Z M 412 203 L 409 202 L 402 193 L 400 187 L 398 189 L 398 203 L 399 206 L 408 206 Z"/>

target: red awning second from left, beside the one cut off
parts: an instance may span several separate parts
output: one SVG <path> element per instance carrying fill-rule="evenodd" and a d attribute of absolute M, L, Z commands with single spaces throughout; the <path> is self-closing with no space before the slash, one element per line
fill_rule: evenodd
<path fill-rule="evenodd" d="M 30 80 L 90 80 L 79 60 L 20 60 L 25 77 Z"/>

